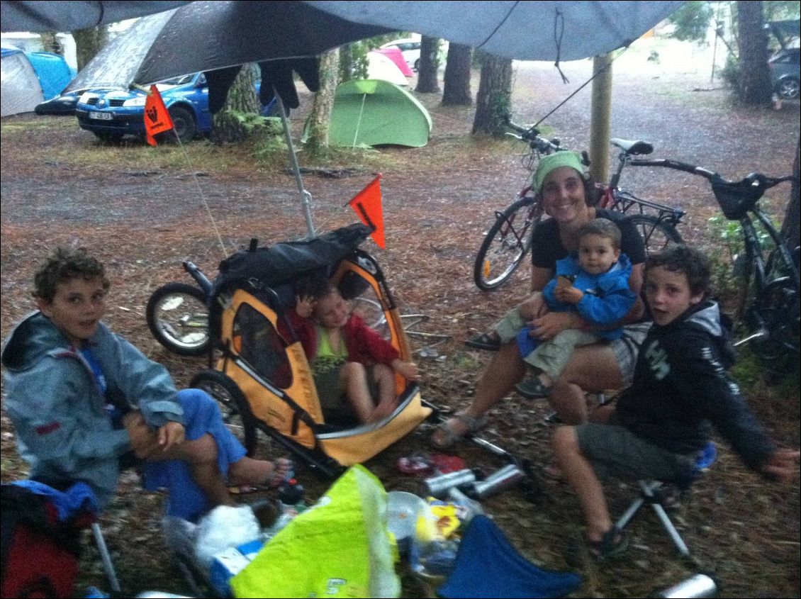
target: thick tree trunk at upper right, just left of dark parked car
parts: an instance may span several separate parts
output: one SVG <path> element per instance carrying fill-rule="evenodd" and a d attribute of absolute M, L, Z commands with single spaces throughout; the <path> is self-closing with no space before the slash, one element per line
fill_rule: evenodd
<path fill-rule="evenodd" d="M 737 2 L 739 18 L 739 97 L 747 104 L 771 103 L 771 72 L 767 66 L 767 35 L 762 2 Z"/>

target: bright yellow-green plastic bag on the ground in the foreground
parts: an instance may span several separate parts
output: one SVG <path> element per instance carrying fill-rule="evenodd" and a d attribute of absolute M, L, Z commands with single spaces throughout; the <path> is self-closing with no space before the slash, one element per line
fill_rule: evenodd
<path fill-rule="evenodd" d="M 387 493 L 357 464 L 231 578 L 235 597 L 400 597 Z"/>

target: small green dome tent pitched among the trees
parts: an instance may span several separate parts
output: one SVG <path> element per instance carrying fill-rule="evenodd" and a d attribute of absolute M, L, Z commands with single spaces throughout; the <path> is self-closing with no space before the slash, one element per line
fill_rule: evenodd
<path fill-rule="evenodd" d="M 358 79 L 336 88 L 328 143 L 356 147 L 429 143 L 429 111 L 408 91 L 381 79 Z"/>

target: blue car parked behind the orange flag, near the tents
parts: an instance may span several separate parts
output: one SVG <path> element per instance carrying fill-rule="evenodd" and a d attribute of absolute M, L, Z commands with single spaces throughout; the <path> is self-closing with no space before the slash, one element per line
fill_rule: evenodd
<path fill-rule="evenodd" d="M 206 75 L 195 73 L 156 84 L 170 112 L 175 133 L 185 143 L 196 135 L 211 132 Z M 259 90 L 256 84 L 256 91 Z M 104 141 L 119 142 L 123 135 L 144 137 L 147 93 L 143 90 L 88 90 L 78 98 L 75 116 L 82 129 Z M 262 111 L 266 115 L 268 107 Z M 162 134 L 167 139 L 172 133 Z"/>

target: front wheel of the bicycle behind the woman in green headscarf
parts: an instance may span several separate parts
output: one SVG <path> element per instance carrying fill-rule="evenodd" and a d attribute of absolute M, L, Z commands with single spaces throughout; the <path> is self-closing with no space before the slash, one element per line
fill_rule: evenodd
<path fill-rule="evenodd" d="M 533 225 L 541 216 L 540 204 L 531 196 L 498 214 L 473 264 L 473 280 L 479 289 L 497 289 L 517 270 L 531 248 Z"/>

